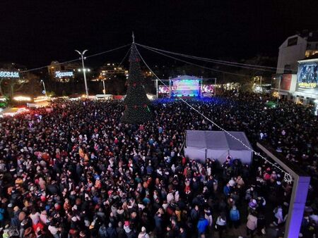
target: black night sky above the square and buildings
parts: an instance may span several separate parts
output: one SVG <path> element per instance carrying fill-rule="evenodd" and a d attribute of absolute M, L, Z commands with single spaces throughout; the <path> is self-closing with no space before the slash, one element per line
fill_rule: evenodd
<path fill-rule="evenodd" d="M 318 29 L 318 1 L 14 1 L 0 3 L 0 61 L 30 67 L 136 42 L 209 58 L 277 56 L 288 35 Z M 125 49 L 92 61 L 120 61 Z M 148 56 L 148 55 L 147 55 Z M 150 57 L 150 55 L 148 56 Z M 151 59 L 150 59 L 151 60 Z"/>

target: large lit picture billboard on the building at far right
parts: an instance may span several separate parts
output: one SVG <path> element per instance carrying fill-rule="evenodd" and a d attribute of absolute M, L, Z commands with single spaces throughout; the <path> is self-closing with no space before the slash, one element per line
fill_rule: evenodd
<path fill-rule="evenodd" d="M 318 94 L 318 61 L 300 63 L 297 74 L 297 90 Z"/>

